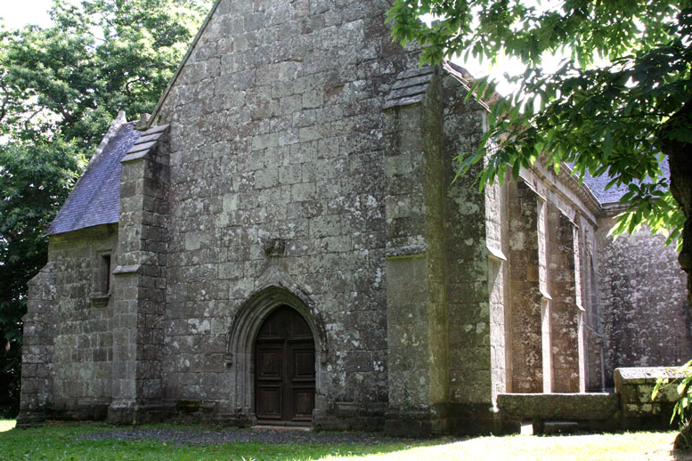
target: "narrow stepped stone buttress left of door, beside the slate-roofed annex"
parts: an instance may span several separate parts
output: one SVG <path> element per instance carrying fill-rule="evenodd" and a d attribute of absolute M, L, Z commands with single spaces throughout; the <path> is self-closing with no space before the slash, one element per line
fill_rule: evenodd
<path fill-rule="evenodd" d="M 167 125 L 142 133 L 122 160 L 114 271 L 111 423 L 161 416 L 166 293 Z"/>

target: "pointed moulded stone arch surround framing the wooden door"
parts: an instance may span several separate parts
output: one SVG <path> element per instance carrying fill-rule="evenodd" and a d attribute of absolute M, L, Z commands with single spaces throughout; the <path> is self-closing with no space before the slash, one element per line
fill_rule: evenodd
<path fill-rule="evenodd" d="M 324 368 L 327 342 L 324 325 L 314 304 L 302 292 L 292 293 L 284 287 L 265 287 L 248 298 L 232 320 L 226 344 L 225 362 L 229 368 L 232 392 L 231 408 L 236 417 L 256 422 L 255 413 L 255 342 L 265 320 L 281 306 L 288 306 L 305 319 L 313 334 L 315 350 L 315 400 L 313 415 L 324 409 Z"/>

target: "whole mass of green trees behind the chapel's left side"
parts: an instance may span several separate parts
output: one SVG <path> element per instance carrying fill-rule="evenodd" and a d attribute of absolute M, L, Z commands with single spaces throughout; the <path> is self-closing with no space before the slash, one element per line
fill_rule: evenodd
<path fill-rule="evenodd" d="M 0 27 L 0 406 L 19 398 L 21 321 L 44 236 L 118 110 L 154 108 L 210 0 L 53 0 Z"/>

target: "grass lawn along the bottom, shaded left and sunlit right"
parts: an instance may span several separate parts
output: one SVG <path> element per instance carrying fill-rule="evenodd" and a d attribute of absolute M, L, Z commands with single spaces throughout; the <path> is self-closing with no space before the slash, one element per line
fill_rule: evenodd
<path fill-rule="evenodd" d="M 622 433 L 539 437 L 515 435 L 466 440 L 275 445 L 244 442 L 223 445 L 173 445 L 163 441 L 77 441 L 80 435 L 113 431 L 109 425 L 47 425 L 13 429 L 13 421 L 0 420 L 2 460 L 664 460 L 692 461 L 688 453 L 672 452 L 675 433 Z M 175 427 L 152 425 L 149 427 Z M 199 426 L 196 426 L 199 429 Z"/>

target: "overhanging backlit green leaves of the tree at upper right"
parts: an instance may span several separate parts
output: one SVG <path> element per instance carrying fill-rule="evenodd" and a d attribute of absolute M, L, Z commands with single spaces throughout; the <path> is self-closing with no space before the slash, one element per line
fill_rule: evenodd
<path fill-rule="evenodd" d="M 460 156 L 460 173 L 487 157 L 482 184 L 510 170 L 517 177 L 538 159 L 556 171 L 571 164 L 580 177 L 606 174 L 609 185 L 629 188 L 615 232 L 647 223 L 671 241 L 690 215 L 686 205 L 692 209 L 688 166 L 673 158 L 692 142 L 691 7 L 682 0 L 396 0 L 388 20 L 403 43 L 425 45 L 423 61 L 507 55 L 525 65 L 506 77 L 518 90 L 493 104 L 490 129 L 479 150 Z M 419 20 L 427 13 L 440 20 Z M 542 69 L 554 53 L 568 58 L 557 70 Z M 473 91 L 488 99 L 493 89 L 480 79 Z M 666 155 L 671 179 L 661 172 Z"/>

